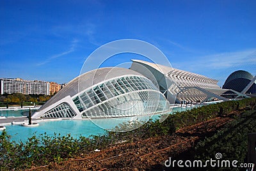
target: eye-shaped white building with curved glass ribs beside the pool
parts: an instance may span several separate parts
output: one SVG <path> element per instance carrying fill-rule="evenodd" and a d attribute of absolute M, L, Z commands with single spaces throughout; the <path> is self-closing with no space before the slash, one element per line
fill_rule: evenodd
<path fill-rule="evenodd" d="M 126 117 L 168 111 L 168 101 L 145 76 L 125 68 L 99 68 L 74 78 L 32 118 Z"/>

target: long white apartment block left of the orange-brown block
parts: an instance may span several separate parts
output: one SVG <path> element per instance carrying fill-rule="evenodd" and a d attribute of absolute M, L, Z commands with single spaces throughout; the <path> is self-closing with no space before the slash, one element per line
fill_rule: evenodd
<path fill-rule="evenodd" d="M 20 78 L 0 78 L 0 93 L 50 95 L 50 83 L 37 80 L 22 80 Z"/>

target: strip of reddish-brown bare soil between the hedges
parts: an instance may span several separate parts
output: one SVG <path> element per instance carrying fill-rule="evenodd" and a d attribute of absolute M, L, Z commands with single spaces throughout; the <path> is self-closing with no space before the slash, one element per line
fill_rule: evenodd
<path fill-rule="evenodd" d="M 33 170 L 166 170 L 164 161 L 169 157 L 186 156 L 186 151 L 198 140 L 212 135 L 229 121 L 232 121 L 230 117 L 216 117 L 178 130 L 172 136 L 120 144 L 92 152 L 83 158 L 52 163 Z"/>

